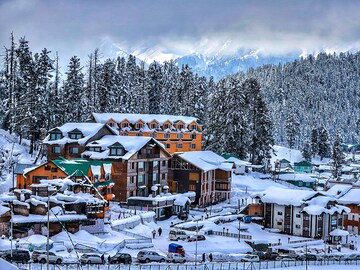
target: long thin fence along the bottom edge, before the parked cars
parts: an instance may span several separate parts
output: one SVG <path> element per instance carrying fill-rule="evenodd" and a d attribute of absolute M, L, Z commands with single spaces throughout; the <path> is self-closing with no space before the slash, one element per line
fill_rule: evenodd
<path fill-rule="evenodd" d="M 262 261 L 262 262 L 216 262 L 216 263 L 198 263 L 195 266 L 194 262 L 185 264 L 99 264 L 99 265 L 80 265 L 80 264 L 61 264 L 50 265 L 50 270 L 260 270 L 260 269 L 279 269 L 298 266 L 303 269 L 305 265 L 348 265 L 349 268 L 354 269 L 354 265 L 360 265 L 360 261 Z M 46 270 L 46 264 L 18 264 L 19 269 L 23 270 Z M 351 268 L 350 268 L 351 267 Z"/>

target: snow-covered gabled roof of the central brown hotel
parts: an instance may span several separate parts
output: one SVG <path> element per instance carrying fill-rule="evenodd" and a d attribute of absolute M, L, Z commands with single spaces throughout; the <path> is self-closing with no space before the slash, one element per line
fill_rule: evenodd
<path fill-rule="evenodd" d="M 170 156 L 170 153 L 163 148 L 163 145 L 151 137 L 114 135 L 105 135 L 100 140 L 90 142 L 86 145 L 87 147 L 101 147 L 103 152 L 85 151 L 83 155 L 97 160 L 108 158 L 128 160 L 149 142 L 157 144 Z M 110 156 L 110 149 L 108 147 L 116 143 L 124 147 L 125 153 L 123 156 Z"/>

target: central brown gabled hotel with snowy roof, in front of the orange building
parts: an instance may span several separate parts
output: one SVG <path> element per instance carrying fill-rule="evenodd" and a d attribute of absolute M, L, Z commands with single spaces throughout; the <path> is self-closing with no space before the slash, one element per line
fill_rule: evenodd
<path fill-rule="evenodd" d="M 159 194 L 167 186 L 171 154 L 151 137 L 106 135 L 85 146 L 82 156 L 112 163 L 115 200 Z"/>

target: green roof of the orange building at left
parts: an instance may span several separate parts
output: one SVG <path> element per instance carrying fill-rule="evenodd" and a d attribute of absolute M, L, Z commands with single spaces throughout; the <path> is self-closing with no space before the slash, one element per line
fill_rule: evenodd
<path fill-rule="evenodd" d="M 87 160 L 84 158 L 74 158 L 74 159 L 54 159 L 51 160 L 59 169 L 64 171 L 67 175 L 73 174 L 76 170 L 76 177 L 81 177 L 82 172 L 87 175 L 89 168 L 91 165 L 93 166 L 102 166 L 103 164 L 112 164 L 111 162 L 103 162 L 103 161 L 93 161 Z"/>

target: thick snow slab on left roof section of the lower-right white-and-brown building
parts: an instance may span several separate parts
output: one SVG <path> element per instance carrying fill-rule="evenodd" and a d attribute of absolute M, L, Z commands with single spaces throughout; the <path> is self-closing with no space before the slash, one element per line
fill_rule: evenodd
<path fill-rule="evenodd" d="M 317 194 L 315 191 L 270 187 L 263 191 L 261 201 L 279 205 L 300 206 Z"/>

